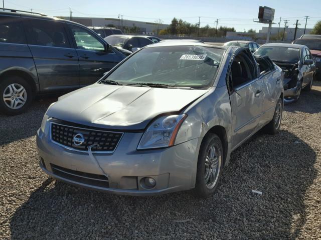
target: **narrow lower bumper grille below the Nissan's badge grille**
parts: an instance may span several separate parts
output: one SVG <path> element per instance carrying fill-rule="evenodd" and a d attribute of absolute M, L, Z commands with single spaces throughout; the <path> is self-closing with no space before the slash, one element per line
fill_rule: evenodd
<path fill-rule="evenodd" d="M 109 187 L 108 177 L 105 175 L 76 171 L 55 164 L 51 164 L 51 168 L 54 174 L 69 180 L 93 186 Z"/>

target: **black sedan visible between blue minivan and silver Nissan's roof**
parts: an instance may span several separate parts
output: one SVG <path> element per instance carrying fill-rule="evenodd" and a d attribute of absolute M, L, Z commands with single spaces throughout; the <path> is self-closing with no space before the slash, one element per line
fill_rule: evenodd
<path fill-rule="evenodd" d="M 116 47 L 120 52 L 126 56 L 132 52 L 140 49 L 143 46 L 153 44 L 154 42 L 145 36 L 133 36 L 133 35 L 109 35 L 104 38 L 108 44 Z"/>

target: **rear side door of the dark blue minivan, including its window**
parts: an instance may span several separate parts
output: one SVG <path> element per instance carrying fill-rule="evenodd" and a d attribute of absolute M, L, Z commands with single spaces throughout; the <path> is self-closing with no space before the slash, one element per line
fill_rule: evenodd
<path fill-rule="evenodd" d="M 38 72 L 40 91 L 79 87 L 79 63 L 65 25 L 57 20 L 25 18 L 27 41 Z"/>

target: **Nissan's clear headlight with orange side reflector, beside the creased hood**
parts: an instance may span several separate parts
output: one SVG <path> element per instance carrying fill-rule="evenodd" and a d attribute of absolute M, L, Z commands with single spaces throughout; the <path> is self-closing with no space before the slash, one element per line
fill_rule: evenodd
<path fill-rule="evenodd" d="M 162 116 L 154 120 L 142 135 L 137 149 L 173 146 L 187 114 Z"/>

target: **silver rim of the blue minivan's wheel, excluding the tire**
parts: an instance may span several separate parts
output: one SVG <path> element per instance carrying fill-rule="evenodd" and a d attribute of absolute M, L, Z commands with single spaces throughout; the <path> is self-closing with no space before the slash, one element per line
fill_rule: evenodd
<path fill-rule="evenodd" d="M 27 91 L 23 85 L 12 83 L 5 88 L 3 99 L 9 108 L 18 109 L 25 105 L 27 101 Z"/>

